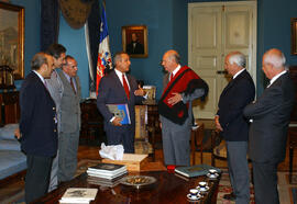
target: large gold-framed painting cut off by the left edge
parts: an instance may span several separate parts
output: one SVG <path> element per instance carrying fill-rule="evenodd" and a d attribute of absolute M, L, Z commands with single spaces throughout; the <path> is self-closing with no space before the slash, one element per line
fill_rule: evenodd
<path fill-rule="evenodd" d="M 24 78 L 24 8 L 0 2 L 0 66 Z"/>

